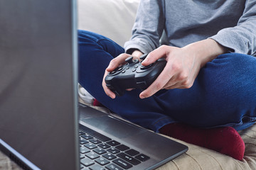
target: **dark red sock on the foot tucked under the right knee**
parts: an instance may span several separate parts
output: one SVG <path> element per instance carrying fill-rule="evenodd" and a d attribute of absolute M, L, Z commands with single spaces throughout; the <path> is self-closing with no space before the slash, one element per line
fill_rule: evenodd
<path fill-rule="evenodd" d="M 231 127 L 202 129 L 181 123 L 171 123 L 161 128 L 160 132 L 193 145 L 227 154 L 238 160 L 242 160 L 245 153 L 245 143 L 238 132 Z"/>

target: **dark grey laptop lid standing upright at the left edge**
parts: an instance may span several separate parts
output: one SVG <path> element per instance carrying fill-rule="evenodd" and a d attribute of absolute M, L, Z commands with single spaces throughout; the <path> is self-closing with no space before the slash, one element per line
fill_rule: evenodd
<path fill-rule="evenodd" d="M 40 169 L 78 169 L 76 2 L 0 1 L 0 139 Z"/>

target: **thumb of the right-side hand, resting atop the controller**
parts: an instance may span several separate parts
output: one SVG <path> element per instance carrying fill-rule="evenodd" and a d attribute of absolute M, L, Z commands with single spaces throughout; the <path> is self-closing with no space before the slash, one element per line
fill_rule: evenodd
<path fill-rule="evenodd" d="M 145 60 L 143 60 L 142 65 L 146 66 L 156 62 L 156 60 L 159 60 L 162 57 L 166 57 L 167 48 L 168 46 L 162 45 L 156 50 L 150 52 L 149 55 L 146 56 Z"/>

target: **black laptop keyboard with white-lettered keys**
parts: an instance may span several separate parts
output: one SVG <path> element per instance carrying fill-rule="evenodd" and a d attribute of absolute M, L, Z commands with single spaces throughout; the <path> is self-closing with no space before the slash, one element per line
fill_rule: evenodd
<path fill-rule="evenodd" d="M 80 168 L 82 170 L 122 170 L 146 162 L 149 156 L 112 140 L 90 128 L 82 127 Z"/>

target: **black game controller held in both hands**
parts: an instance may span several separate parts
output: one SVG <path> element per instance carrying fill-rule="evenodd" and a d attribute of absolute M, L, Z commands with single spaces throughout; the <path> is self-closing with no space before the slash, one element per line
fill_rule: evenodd
<path fill-rule="evenodd" d="M 146 56 L 147 54 L 139 58 L 144 60 Z M 139 60 L 133 60 L 133 57 L 128 57 L 125 61 L 127 64 L 117 67 L 105 77 L 107 87 L 117 96 L 123 96 L 126 89 L 148 88 L 166 65 L 163 58 L 147 66 L 143 66 Z"/>

